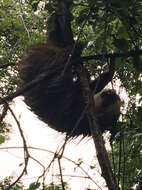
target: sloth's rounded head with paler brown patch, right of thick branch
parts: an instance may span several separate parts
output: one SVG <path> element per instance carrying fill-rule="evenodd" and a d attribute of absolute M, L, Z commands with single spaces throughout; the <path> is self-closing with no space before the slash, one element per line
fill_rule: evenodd
<path fill-rule="evenodd" d="M 100 127 L 110 130 L 120 115 L 120 97 L 115 90 L 103 90 L 94 95 L 95 115 Z"/>

